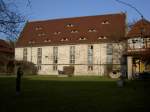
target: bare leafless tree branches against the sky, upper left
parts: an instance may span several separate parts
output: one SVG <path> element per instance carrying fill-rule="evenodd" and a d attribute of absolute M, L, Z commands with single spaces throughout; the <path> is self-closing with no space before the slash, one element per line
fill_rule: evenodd
<path fill-rule="evenodd" d="M 8 1 L 8 2 L 6 2 Z M 13 10 L 11 0 L 0 0 L 0 34 L 6 36 L 9 41 L 15 41 L 20 32 L 20 27 L 26 21 L 19 11 Z M 30 1 L 27 0 L 27 6 L 30 6 Z"/>

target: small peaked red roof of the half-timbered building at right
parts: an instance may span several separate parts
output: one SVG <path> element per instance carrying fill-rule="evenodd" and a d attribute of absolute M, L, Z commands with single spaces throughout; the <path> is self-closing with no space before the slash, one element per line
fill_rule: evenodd
<path fill-rule="evenodd" d="M 131 30 L 128 32 L 127 37 L 139 37 L 141 36 L 150 36 L 150 22 L 141 19 L 137 21 L 132 27 Z"/>

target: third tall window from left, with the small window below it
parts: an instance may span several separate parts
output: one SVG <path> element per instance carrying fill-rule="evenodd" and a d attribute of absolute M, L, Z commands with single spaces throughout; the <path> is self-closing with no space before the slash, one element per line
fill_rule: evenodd
<path fill-rule="evenodd" d="M 58 63 L 58 47 L 53 47 L 53 70 L 57 70 L 57 63 Z"/>

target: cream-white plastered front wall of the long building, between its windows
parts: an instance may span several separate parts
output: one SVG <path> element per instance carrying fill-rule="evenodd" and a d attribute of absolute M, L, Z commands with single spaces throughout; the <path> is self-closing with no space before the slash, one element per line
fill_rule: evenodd
<path fill-rule="evenodd" d="M 93 46 L 93 63 L 92 70 L 88 70 L 88 46 Z M 75 46 L 75 63 L 70 64 L 70 47 Z M 74 75 L 96 75 L 103 76 L 106 73 L 108 64 L 107 48 L 108 43 L 101 44 L 76 44 L 76 45 L 58 45 L 58 62 L 57 70 L 53 66 L 53 47 L 54 46 L 39 46 L 39 47 L 20 47 L 15 48 L 15 59 L 23 60 L 23 50 L 27 48 L 27 61 L 33 62 L 37 66 L 38 48 L 42 48 L 42 62 L 38 74 L 40 75 L 58 75 L 58 70 L 62 70 L 63 66 L 73 65 L 75 68 Z M 112 45 L 112 64 L 120 65 L 122 56 L 123 44 Z"/>

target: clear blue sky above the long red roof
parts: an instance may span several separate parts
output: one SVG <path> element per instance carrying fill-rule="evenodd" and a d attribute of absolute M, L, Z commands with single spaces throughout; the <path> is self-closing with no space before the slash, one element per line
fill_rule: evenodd
<path fill-rule="evenodd" d="M 80 16 L 103 15 L 125 12 L 127 21 L 140 19 L 140 15 L 131 7 L 118 3 L 115 0 L 30 0 L 27 7 L 26 1 L 16 0 L 20 13 L 29 21 L 49 20 L 56 18 L 70 18 Z M 150 20 L 150 0 L 122 0 L 136 7 Z"/>

